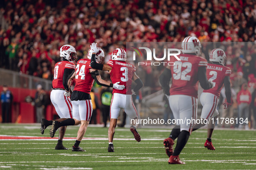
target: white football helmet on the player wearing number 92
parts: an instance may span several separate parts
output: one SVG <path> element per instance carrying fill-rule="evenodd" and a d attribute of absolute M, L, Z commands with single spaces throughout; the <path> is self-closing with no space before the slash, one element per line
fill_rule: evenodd
<path fill-rule="evenodd" d="M 188 36 L 181 43 L 183 53 L 195 53 L 197 56 L 201 54 L 201 43 L 198 38 Z"/>

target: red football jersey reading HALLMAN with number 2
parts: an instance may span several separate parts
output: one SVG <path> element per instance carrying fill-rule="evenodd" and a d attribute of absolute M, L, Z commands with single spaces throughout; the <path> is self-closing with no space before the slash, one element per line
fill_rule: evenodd
<path fill-rule="evenodd" d="M 224 78 L 230 76 L 231 69 L 226 66 L 217 64 L 208 64 L 206 76 L 209 81 L 213 82 L 213 88 L 204 90 L 203 92 L 211 93 L 220 98 L 220 91 L 224 83 Z"/>

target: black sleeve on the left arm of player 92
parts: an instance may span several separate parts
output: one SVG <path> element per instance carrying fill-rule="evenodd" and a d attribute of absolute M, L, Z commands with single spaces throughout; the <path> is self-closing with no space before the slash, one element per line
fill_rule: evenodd
<path fill-rule="evenodd" d="M 167 95 L 170 95 L 170 86 L 169 82 L 172 78 L 172 72 L 170 69 L 165 68 L 165 70 L 162 72 L 162 74 L 159 77 L 159 82 L 162 86 L 162 89 L 164 90 L 164 93 Z"/>

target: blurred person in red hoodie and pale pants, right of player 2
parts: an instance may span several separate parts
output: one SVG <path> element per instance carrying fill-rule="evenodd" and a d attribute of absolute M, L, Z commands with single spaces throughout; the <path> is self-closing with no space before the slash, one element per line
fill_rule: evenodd
<path fill-rule="evenodd" d="M 249 126 L 247 123 L 240 124 L 240 118 L 243 118 L 243 121 L 246 120 L 249 122 L 250 117 L 249 117 L 249 105 L 252 101 L 252 96 L 251 93 L 248 89 L 247 83 L 244 83 L 242 85 L 241 91 L 238 92 L 237 94 L 237 104 L 238 104 L 238 123 L 239 123 L 239 128 L 242 128 L 243 126 L 245 129 L 249 129 Z M 243 126 L 242 126 L 243 125 Z"/>

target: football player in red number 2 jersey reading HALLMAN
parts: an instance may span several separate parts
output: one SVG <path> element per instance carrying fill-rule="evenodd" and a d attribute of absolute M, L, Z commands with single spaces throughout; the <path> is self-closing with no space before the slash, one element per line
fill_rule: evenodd
<path fill-rule="evenodd" d="M 211 136 L 215 126 L 215 120 L 219 115 L 217 110 L 218 100 L 220 98 L 220 91 L 224 84 L 226 101 L 224 102 L 224 109 L 227 109 L 231 105 L 231 88 L 230 88 L 230 74 L 231 69 L 224 66 L 227 57 L 224 50 L 215 48 L 211 50 L 209 60 L 211 63 L 207 65 L 207 79 L 213 82 L 213 88 L 204 90 L 200 96 L 201 104 L 203 105 L 201 119 L 207 120 L 207 140 L 204 143 L 204 147 L 210 150 L 215 150 L 211 142 Z M 210 120 L 210 121 L 209 121 Z M 204 126 L 205 124 L 196 124 L 194 130 Z"/>

